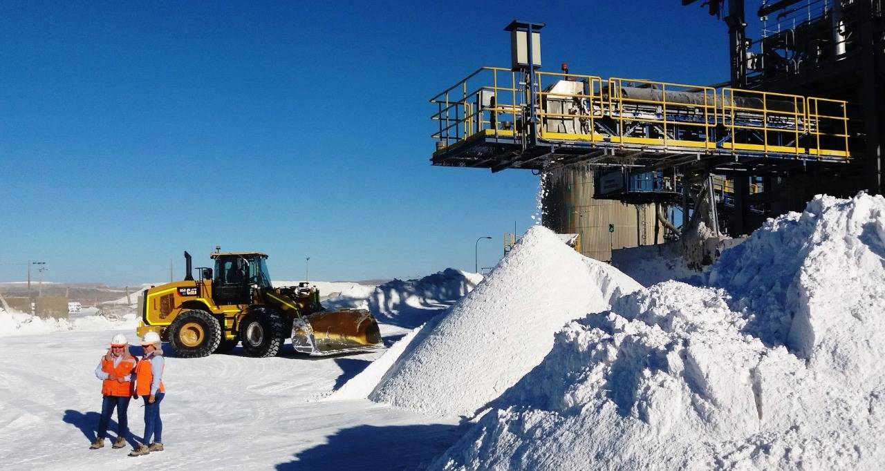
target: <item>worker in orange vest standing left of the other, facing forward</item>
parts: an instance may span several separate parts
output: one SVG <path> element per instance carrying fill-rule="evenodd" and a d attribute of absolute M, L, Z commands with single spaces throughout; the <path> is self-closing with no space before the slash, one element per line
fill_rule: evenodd
<path fill-rule="evenodd" d="M 98 420 L 98 435 L 96 441 L 89 445 L 90 450 L 97 450 L 104 446 L 104 438 L 108 433 L 108 422 L 111 422 L 111 414 L 117 409 L 117 439 L 114 440 L 113 448 L 126 446 L 126 437 L 129 435 L 127 421 L 127 409 L 129 408 L 129 396 L 133 392 L 132 373 L 135 370 L 135 357 L 129 353 L 126 336 L 117 334 L 111 339 L 111 347 L 104 353 L 96 368 L 96 377 L 102 380 L 102 416 Z"/>

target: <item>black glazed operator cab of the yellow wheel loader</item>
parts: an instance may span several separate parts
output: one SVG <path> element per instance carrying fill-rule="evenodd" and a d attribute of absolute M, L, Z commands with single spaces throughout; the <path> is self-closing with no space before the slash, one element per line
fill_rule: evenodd
<path fill-rule="evenodd" d="M 267 255 L 258 252 L 216 252 L 212 300 L 218 306 L 250 304 L 252 288 L 270 288 Z"/>

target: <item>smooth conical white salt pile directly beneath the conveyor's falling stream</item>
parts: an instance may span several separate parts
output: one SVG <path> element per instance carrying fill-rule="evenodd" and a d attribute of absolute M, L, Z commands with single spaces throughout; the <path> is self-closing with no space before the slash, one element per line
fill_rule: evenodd
<path fill-rule="evenodd" d="M 425 414 L 473 414 L 540 363 L 564 323 L 641 288 L 536 226 L 416 335 L 369 399 Z"/>

